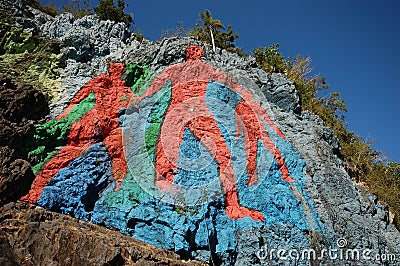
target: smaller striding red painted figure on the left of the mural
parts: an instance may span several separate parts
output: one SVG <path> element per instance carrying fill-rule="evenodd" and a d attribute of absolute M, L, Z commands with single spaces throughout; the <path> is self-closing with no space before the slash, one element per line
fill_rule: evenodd
<path fill-rule="evenodd" d="M 89 81 L 75 95 L 64 113 L 56 119 L 66 117 L 84 98 L 94 93 L 96 102 L 88 113 L 71 126 L 67 145 L 61 149 L 36 176 L 31 190 L 22 200 L 35 203 L 47 182 L 58 170 L 67 167 L 91 144 L 103 141 L 112 159 L 113 176 L 116 188 L 127 173 L 125 153 L 122 145 L 122 129 L 118 125 L 118 111 L 127 107 L 132 90 L 120 80 L 123 64 L 113 63 L 109 74 L 102 74 Z M 126 99 L 126 100 L 124 100 Z"/>

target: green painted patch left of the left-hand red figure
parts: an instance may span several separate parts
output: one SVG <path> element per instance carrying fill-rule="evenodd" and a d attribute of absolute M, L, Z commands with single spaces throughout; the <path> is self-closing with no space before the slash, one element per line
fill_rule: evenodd
<path fill-rule="evenodd" d="M 32 167 L 35 174 L 59 149 L 65 146 L 70 126 L 93 108 L 95 100 L 95 94 L 92 92 L 77 104 L 66 117 L 35 126 L 34 133 L 25 143 L 29 154 L 37 160 L 37 163 Z"/>

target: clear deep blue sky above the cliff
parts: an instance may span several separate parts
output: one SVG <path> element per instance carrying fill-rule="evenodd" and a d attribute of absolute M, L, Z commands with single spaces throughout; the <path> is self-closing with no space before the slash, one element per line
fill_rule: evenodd
<path fill-rule="evenodd" d="M 134 27 L 150 40 L 179 21 L 193 27 L 208 8 L 214 18 L 232 25 L 240 35 L 236 45 L 245 51 L 277 42 L 286 57 L 310 56 L 315 73 L 326 76 L 331 89 L 345 99 L 349 129 L 374 142 L 389 160 L 400 162 L 400 1 L 126 2 Z"/>

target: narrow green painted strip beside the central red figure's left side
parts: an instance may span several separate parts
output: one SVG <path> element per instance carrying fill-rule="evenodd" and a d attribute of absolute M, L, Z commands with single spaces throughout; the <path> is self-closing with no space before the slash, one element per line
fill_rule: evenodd
<path fill-rule="evenodd" d="M 147 153 L 154 154 L 157 146 L 158 136 L 160 135 L 161 125 L 164 121 L 165 114 L 172 99 L 172 82 L 170 80 L 165 83 L 160 91 L 162 94 L 157 98 L 151 110 L 147 127 L 144 135 L 144 143 Z"/>

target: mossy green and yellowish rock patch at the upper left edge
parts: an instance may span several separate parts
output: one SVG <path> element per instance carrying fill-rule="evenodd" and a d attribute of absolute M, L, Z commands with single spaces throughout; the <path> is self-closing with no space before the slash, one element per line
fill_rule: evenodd
<path fill-rule="evenodd" d="M 1 5 L 0 14 L 0 73 L 33 85 L 48 100 L 56 98 L 60 92 L 58 44 L 17 28 L 9 15 L 12 13 Z"/>

